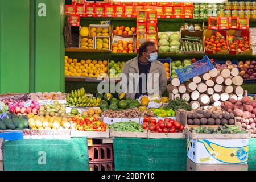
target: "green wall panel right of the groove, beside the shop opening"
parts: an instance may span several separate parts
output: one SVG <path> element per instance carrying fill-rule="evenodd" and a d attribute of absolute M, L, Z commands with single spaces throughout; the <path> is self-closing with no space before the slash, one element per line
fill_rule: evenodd
<path fill-rule="evenodd" d="M 40 3 L 46 16 L 39 16 Z M 35 91 L 64 92 L 64 0 L 36 0 L 35 9 Z"/>

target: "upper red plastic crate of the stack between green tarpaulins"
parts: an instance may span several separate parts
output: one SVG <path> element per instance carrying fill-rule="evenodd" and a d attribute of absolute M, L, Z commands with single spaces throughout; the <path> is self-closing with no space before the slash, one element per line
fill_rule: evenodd
<path fill-rule="evenodd" d="M 89 162 L 113 162 L 112 144 L 95 144 L 88 147 Z"/>

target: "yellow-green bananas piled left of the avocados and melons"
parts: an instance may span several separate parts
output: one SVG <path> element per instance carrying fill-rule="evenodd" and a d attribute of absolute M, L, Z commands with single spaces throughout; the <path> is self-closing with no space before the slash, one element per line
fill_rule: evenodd
<path fill-rule="evenodd" d="M 75 107 L 98 107 L 100 106 L 101 99 L 94 97 L 87 97 L 85 89 L 82 87 L 78 90 L 72 90 L 67 94 L 67 104 Z"/>

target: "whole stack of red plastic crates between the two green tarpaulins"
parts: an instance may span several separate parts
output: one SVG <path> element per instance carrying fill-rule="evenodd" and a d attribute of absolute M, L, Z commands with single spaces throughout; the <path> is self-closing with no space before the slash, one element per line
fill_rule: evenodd
<path fill-rule="evenodd" d="M 88 147 L 90 171 L 114 171 L 112 144 L 93 144 Z"/>

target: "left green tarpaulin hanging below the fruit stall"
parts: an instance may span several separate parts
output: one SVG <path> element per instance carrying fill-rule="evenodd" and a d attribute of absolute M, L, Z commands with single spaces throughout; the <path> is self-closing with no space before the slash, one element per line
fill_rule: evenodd
<path fill-rule="evenodd" d="M 88 171 L 87 138 L 15 140 L 3 145 L 5 171 Z"/>

